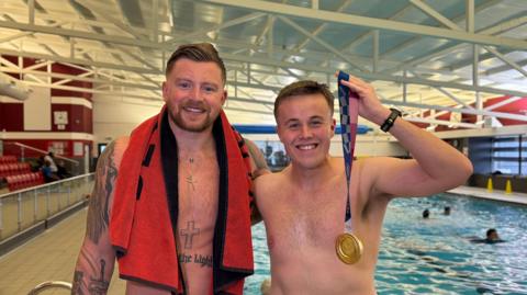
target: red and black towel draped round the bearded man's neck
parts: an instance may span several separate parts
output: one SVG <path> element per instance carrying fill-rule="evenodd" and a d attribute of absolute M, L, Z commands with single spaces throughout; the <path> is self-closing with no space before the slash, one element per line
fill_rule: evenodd
<path fill-rule="evenodd" d="M 242 294 L 245 276 L 254 272 L 248 151 L 223 112 L 214 122 L 213 135 L 220 193 L 211 284 L 213 294 Z M 131 135 L 117 173 L 110 238 L 122 279 L 179 294 L 183 290 L 175 236 L 177 170 L 177 140 L 164 107 Z"/>

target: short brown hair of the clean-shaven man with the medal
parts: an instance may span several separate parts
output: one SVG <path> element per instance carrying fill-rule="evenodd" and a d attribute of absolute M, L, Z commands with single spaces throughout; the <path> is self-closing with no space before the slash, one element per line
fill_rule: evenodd
<path fill-rule="evenodd" d="M 274 118 L 278 122 L 278 107 L 280 104 L 292 97 L 296 95 L 307 95 L 307 94 L 322 94 L 324 99 L 326 99 L 327 105 L 332 112 L 333 116 L 333 107 L 334 107 L 334 100 L 335 97 L 333 95 L 329 88 L 324 83 L 318 83 L 313 80 L 302 80 L 290 83 L 289 86 L 282 88 L 280 93 L 278 93 L 277 99 L 274 100 Z"/>

